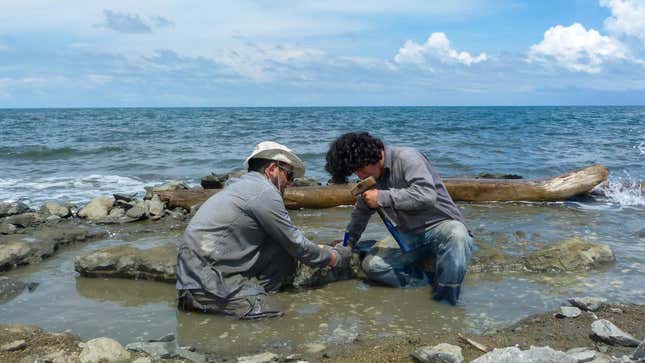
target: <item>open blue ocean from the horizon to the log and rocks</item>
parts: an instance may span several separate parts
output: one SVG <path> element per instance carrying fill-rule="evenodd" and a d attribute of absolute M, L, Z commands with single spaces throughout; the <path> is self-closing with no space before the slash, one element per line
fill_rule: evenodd
<path fill-rule="evenodd" d="M 616 191 L 645 180 L 645 107 L 323 107 L 0 110 L 0 201 L 86 202 L 98 194 L 241 169 L 254 145 L 295 150 L 323 182 L 337 136 L 369 131 L 413 146 L 449 176 L 544 178 L 593 163 Z M 620 195 L 638 204 L 636 195 Z"/>

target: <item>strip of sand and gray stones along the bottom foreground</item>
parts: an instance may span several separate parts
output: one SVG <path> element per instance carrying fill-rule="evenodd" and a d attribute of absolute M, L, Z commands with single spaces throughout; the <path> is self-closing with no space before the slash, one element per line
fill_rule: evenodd
<path fill-rule="evenodd" d="M 345 345 L 303 345 L 293 352 L 221 356 L 180 347 L 172 334 L 123 347 L 69 331 L 0 324 L 2 362 L 644 362 L 645 306 L 572 298 L 560 309 L 481 335 L 447 331 Z M 563 314 L 575 311 L 575 314 Z M 369 353 L 368 353 L 369 352 Z"/>

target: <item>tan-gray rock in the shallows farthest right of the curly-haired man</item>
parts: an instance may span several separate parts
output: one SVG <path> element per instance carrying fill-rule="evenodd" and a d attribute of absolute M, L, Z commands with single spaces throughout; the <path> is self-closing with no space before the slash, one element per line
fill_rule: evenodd
<path fill-rule="evenodd" d="M 536 272 L 584 271 L 612 261 L 609 246 L 577 237 L 522 257 L 526 268 Z"/>

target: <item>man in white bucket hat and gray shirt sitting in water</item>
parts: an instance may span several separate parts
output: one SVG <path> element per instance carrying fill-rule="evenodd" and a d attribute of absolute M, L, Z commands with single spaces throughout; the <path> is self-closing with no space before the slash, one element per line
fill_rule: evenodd
<path fill-rule="evenodd" d="M 295 273 L 347 266 L 351 250 L 317 245 L 296 228 L 282 195 L 305 167 L 291 149 L 259 143 L 233 179 L 197 211 L 179 243 L 178 306 L 240 319 L 281 316 L 269 296 Z"/>

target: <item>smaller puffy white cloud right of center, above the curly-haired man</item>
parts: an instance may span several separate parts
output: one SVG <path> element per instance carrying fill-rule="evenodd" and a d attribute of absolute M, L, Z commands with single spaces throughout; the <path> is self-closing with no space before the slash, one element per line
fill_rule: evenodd
<path fill-rule="evenodd" d="M 468 52 L 456 51 L 444 33 L 432 33 L 424 44 L 408 40 L 394 57 L 398 64 L 415 64 L 432 69 L 437 61 L 443 64 L 459 63 L 470 66 L 488 60 L 486 53 L 472 56 Z"/>

